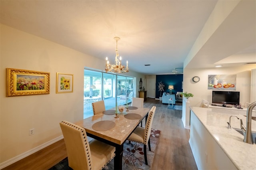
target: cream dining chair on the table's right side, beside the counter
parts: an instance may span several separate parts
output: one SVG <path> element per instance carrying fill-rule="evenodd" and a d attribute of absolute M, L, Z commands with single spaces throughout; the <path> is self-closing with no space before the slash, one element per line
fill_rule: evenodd
<path fill-rule="evenodd" d="M 136 127 L 134 132 L 132 132 L 132 134 L 128 138 L 129 143 L 130 143 L 130 141 L 133 141 L 133 142 L 138 142 L 138 143 L 144 144 L 144 159 L 145 159 L 146 165 L 148 164 L 147 144 L 148 144 L 149 151 L 151 151 L 150 134 L 151 134 L 151 127 L 152 127 L 155 112 L 156 112 L 156 106 L 153 106 L 149 111 L 146 127 L 145 128 L 139 127 L 139 126 Z"/>

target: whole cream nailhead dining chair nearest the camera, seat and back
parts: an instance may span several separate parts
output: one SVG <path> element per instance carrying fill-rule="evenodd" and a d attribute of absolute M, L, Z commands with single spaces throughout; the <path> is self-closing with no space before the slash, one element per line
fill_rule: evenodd
<path fill-rule="evenodd" d="M 60 122 L 60 128 L 73 170 L 101 170 L 114 158 L 115 147 L 98 140 L 89 143 L 84 128 L 67 121 Z"/>

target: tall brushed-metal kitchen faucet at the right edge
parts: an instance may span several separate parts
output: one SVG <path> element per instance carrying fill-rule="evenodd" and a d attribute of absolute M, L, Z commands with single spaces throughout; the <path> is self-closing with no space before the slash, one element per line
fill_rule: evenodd
<path fill-rule="evenodd" d="M 253 144 L 252 140 L 252 109 L 256 106 L 256 101 L 250 104 L 246 113 L 246 128 L 243 125 L 242 119 L 240 119 L 240 127 L 244 134 L 244 142 Z"/>

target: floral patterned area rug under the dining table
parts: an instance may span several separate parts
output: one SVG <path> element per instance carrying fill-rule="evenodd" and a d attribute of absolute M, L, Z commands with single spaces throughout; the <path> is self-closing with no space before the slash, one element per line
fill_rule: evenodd
<path fill-rule="evenodd" d="M 131 142 L 131 144 L 126 141 L 124 143 L 124 152 L 123 152 L 123 164 L 122 169 L 124 170 L 149 170 L 156 146 L 158 144 L 158 139 L 160 135 L 160 130 L 151 129 L 150 134 L 150 146 L 151 151 L 148 150 L 147 146 L 147 158 L 148 158 L 148 165 L 145 164 L 144 160 L 144 152 L 143 152 L 143 144 Z M 64 158 L 64 160 L 60 161 L 58 164 L 52 166 L 49 170 L 72 170 L 68 166 L 68 158 Z M 114 159 L 112 159 L 108 165 L 104 167 L 104 170 L 114 170 Z"/>

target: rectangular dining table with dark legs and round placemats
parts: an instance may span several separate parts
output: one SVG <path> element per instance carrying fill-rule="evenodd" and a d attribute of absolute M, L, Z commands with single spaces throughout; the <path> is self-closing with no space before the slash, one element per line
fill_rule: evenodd
<path fill-rule="evenodd" d="M 148 117 L 148 108 L 128 107 L 128 111 L 118 114 L 116 108 L 103 111 L 74 124 L 83 127 L 87 136 L 100 140 L 116 148 L 114 170 L 122 170 L 123 146 L 130 134 Z"/>

